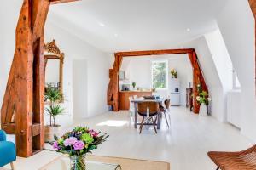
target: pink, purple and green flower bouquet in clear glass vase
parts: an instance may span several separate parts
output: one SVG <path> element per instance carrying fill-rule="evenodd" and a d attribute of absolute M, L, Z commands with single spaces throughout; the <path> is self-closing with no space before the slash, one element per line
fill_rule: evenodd
<path fill-rule="evenodd" d="M 97 149 L 97 146 L 108 138 L 107 134 L 100 135 L 100 133 L 88 127 L 74 127 L 71 132 L 56 139 L 53 148 L 69 156 L 70 170 L 86 170 L 86 154 Z"/>

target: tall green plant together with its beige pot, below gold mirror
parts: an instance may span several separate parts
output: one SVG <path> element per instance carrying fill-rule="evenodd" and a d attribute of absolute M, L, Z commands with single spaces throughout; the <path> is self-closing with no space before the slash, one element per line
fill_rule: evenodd
<path fill-rule="evenodd" d="M 45 142 L 54 141 L 54 136 L 60 132 L 61 125 L 56 124 L 56 116 L 62 114 L 64 109 L 59 105 L 62 99 L 62 94 L 59 89 L 48 86 L 45 88 L 44 98 L 49 102 L 49 106 L 45 111 L 49 113 L 49 125 L 44 127 L 44 140 Z"/>

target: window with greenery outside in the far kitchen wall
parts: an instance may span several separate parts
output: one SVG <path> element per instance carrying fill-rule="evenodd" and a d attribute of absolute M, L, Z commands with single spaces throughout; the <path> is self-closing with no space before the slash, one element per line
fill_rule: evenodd
<path fill-rule="evenodd" d="M 168 88 L 168 62 L 152 61 L 152 88 Z"/>

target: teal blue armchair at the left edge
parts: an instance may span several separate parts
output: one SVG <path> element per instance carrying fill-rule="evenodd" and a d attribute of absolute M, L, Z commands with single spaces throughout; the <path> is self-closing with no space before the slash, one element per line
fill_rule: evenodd
<path fill-rule="evenodd" d="M 15 160 L 15 144 L 6 141 L 6 133 L 3 130 L 0 130 L 0 167 L 3 167 L 10 163 L 12 169 L 14 169 L 13 161 Z"/>

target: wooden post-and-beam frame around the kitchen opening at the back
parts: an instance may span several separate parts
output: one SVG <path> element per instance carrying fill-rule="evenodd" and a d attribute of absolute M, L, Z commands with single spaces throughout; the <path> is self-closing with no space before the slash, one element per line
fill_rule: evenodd
<path fill-rule="evenodd" d="M 115 60 L 113 63 L 113 69 L 109 71 L 109 84 L 108 84 L 108 105 L 112 105 L 113 111 L 119 111 L 119 69 L 122 64 L 123 57 L 132 56 L 147 56 L 147 55 L 162 55 L 162 54 L 189 54 L 189 59 L 193 67 L 193 93 L 194 93 L 194 112 L 199 113 L 200 105 L 196 102 L 197 84 L 201 84 L 203 90 L 208 92 L 207 84 L 204 80 L 195 49 L 164 49 L 164 50 L 148 50 L 148 51 L 131 51 L 131 52 L 119 52 L 115 53 Z"/>

